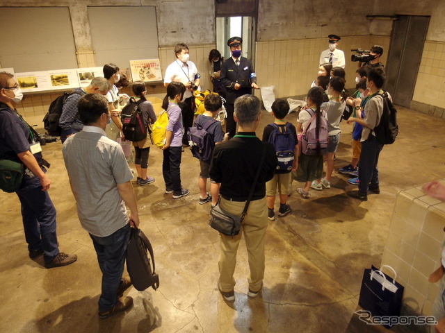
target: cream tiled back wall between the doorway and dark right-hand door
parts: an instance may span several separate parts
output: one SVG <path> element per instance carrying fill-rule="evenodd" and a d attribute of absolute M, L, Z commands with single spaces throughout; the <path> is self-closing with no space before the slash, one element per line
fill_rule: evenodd
<path fill-rule="evenodd" d="M 358 62 L 351 62 L 355 54 L 351 49 L 369 49 L 374 44 L 385 50 L 382 63 L 386 63 L 389 49 L 389 37 L 385 36 L 350 36 L 341 37 L 339 49 L 346 58 L 346 87 L 355 88 L 355 71 Z M 260 87 L 275 86 L 275 97 L 298 96 L 307 94 L 318 72 L 321 51 L 327 49 L 327 39 L 282 40 L 257 43 L 257 72 Z"/>

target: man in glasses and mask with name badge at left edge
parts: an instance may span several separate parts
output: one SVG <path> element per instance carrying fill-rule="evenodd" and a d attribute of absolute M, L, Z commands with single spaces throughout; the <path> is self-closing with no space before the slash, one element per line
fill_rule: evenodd
<path fill-rule="evenodd" d="M 42 157 L 38 134 L 15 110 L 22 97 L 13 74 L 0 72 L 0 160 L 24 164 L 22 183 L 15 193 L 22 205 L 29 257 L 43 255 L 46 268 L 66 266 L 77 256 L 58 250 L 56 208 L 49 198 L 51 182 L 44 169 L 49 163 Z"/>

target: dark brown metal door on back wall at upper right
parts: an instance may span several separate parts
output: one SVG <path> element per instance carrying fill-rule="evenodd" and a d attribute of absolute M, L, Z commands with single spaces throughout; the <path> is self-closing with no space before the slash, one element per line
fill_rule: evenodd
<path fill-rule="evenodd" d="M 392 26 L 385 89 L 404 108 L 411 106 L 429 23 L 429 16 L 401 15 Z"/>

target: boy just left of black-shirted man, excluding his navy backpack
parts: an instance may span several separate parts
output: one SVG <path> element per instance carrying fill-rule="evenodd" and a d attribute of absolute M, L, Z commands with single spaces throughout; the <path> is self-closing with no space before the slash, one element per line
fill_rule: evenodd
<path fill-rule="evenodd" d="M 220 121 L 216 120 L 221 108 L 223 108 L 223 102 L 220 96 L 217 94 L 208 94 L 204 99 L 205 111 L 203 114 L 199 114 L 194 123 L 194 127 L 203 128 L 210 137 L 210 140 L 205 140 L 206 145 L 202 147 L 203 153 L 209 156 L 208 160 L 201 160 L 200 158 L 200 177 L 197 180 L 197 186 L 200 188 L 200 205 L 211 201 L 212 207 L 218 203 L 218 197 L 220 193 L 219 184 L 214 182 L 209 176 L 211 155 L 213 148 L 220 142 L 227 141 L 228 136 L 223 132 L 223 127 Z M 192 129 L 192 128 L 191 128 Z M 195 155 L 196 157 L 196 155 Z M 207 178 L 210 178 L 210 194 L 207 193 Z"/>

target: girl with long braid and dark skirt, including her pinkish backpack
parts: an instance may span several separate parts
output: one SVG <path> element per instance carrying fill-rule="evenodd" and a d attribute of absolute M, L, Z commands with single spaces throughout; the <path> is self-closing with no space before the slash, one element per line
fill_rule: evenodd
<path fill-rule="evenodd" d="M 302 135 L 302 149 L 294 178 L 305 183 L 304 187 L 297 189 L 302 198 L 310 198 L 309 188 L 312 181 L 321 178 L 323 174 L 323 154 L 327 148 L 327 118 L 326 112 L 321 110 L 321 103 L 323 89 L 313 87 L 307 92 L 306 108 L 298 114 L 297 131 L 305 134 Z"/>

